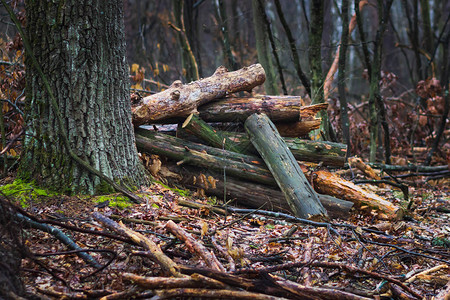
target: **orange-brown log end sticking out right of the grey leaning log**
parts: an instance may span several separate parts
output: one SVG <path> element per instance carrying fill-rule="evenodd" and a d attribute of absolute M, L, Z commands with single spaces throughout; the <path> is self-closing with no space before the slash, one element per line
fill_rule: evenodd
<path fill-rule="evenodd" d="M 319 193 L 351 201 L 358 208 L 374 210 L 383 219 L 399 220 L 403 217 L 403 209 L 327 170 L 313 172 L 313 178 L 314 188 Z"/>

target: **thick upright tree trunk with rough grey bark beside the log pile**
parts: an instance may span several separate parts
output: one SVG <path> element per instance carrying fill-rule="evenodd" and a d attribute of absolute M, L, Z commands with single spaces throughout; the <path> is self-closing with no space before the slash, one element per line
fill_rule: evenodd
<path fill-rule="evenodd" d="M 122 2 L 26 4 L 26 34 L 64 128 L 59 128 L 44 81 L 27 56 L 28 127 L 19 177 L 63 192 L 105 188 L 72 160 L 61 138 L 65 131 L 70 148 L 91 166 L 114 181 L 139 185 L 144 173 L 131 124 Z"/>

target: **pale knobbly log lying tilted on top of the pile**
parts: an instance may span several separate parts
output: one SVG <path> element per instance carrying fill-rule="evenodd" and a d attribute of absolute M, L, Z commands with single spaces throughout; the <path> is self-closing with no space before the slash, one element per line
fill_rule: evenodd
<path fill-rule="evenodd" d="M 175 81 L 167 90 L 145 97 L 132 108 L 133 124 L 139 126 L 164 118 L 187 117 L 196 112 L 201 104 L 224 97 L 227 93 L 251 91 L 265 79 L 264 69 L 256 64 L 234 72 L 227 72 L 222 66 L 211 77 L 185 85 Z"/>

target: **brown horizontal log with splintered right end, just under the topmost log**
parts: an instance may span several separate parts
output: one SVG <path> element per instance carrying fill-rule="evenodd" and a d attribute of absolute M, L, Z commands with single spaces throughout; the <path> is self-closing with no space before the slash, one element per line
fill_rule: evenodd
<path fill-rule="evenodd" d="M 273 122 L 297 122 L 314 117 L 328 104 L 301 106 L 299 96 L 227 97 L 198 107 L 206 122 L 244 122 L 254 113 L 265 113 Z"/>

